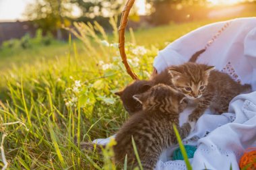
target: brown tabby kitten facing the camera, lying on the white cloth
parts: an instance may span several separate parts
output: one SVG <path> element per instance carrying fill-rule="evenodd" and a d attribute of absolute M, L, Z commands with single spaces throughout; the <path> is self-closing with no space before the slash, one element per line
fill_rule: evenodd
<path fill-rule="evenodd" d="M 207 108 L 219 114 L 228 112 L 232 98 L 251 90 L 251 85 L 241 85 L 228 74 L 214 69 L 213 66 L 193 62 L 168 68 L 172 87 L 197 104 L 189 115 L 190 121 L 196 121 Z"/>

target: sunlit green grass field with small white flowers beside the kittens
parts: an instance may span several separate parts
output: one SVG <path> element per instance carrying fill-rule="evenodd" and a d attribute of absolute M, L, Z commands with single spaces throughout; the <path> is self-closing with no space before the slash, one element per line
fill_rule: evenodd
<path fill-rule="evenodd" d="M 158 50 L 212 22 L 127 31 L 131 67 L 148 79 Z M 128 114 L 114 93 L 132 80 L 119 56 L 117 32 L 94 37 L 90 28 L 80 28 L 89 29 L 84 43 L 70 38 L 0 51 L 0 140 L 7 135 L 0 167 L 5 155 L 9 169 L 115 169 L 110 151 L 104 157 L 86 153 L 74 139 L 79 143 L 117 132 Z"/>

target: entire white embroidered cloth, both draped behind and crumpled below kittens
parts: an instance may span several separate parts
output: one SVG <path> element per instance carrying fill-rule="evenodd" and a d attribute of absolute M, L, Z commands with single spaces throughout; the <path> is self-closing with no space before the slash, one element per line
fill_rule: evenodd
<path fill-rule="evenodd" d="M 198 28 L 169 44 L 158 53 L 154 67 L 160 73 L 170 65 L 180 65 L 189 60 L 197 50 L 206 48 L 197 62 L 214 65 L 238 82 L 249 83 L 256 90 L 256 17 L 232 19 Z M 187 108 L 180 124 L 187 121 L 193 108 Z M 238 95 L 230 102 L 228 113 L 213 115 L 207 110 L 197 121 L 195 131 L 184 144 L 197 146 L 193 169 L 238 168 L 245 148 L 256 146 L 256 92 Z M 108 138 L 94 140 L 106 144 Z M 177 146 L 165 151 L 156 170 L 186 169 L 184 161 L 170 161 Z"/>

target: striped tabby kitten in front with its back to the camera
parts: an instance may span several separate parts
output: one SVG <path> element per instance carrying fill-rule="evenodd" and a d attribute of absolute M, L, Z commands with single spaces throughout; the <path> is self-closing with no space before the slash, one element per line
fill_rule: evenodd
<path fill-rule="evenodd" d="M 133 97 L 142 104 L 143 110 L 131 116 L 117 132 L 117 145 L 113 147 L 115 161 L 124 163 L 127 155 L 128 165 L 138 166 L 131 142 L 133 136 L 143 169 L 154 169 L 164 149 L 177 144 L 172 124 L 177 126 L 181 138 L 185 138 L 195 123 L 185 123 L 179 127 L 179 104 L 184 95 L 168 85 L 156 85 L 146 93 Z M 93 148 L 88 143 L 82 144 L 82 147 Z"/>

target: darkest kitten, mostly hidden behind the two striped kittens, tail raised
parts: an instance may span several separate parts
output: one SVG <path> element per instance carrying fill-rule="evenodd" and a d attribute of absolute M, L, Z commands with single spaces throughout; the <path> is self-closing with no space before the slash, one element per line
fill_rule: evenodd
<path fill-rule="evenodd" d="M 198 56 L 203 52 L 205 52 L 205 49 L 195 52 L 195 54 L 193 54 L 193 56 L 191 56 L 191 58 L 189 59 L 189 62 L 195 62 Z M 168 73 L 168 69 L 165 69 L 164 71 L 162 71 L 162 73 L 153 77 L 152 80 L 134 81 L 133 83 L 131 83 L 131 85 L 127 85 L 127 87 L 125 87 L 123 91 L 119 91 L 115 93 L 115 95 L 119 95 L 119 97 L 123 102 L 123 106 L 125 110 L 127 110 L 127 112 L 130 115 L 133 115 L 142 109 L 141 103 L 133 99 L 133 95 L 144 93 L 145 91 L 150 89 L 152 86 L 157 85 L 159 83 L 163 83 L 165 85 L 172 85 L 170 79 L 171 79 L 171 76 Z"/>

